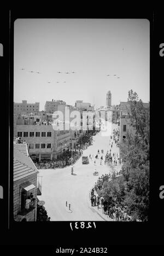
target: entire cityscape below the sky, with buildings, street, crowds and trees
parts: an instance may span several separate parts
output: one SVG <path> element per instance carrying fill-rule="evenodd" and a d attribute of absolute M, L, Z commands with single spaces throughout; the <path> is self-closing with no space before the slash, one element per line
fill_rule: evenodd
<path fill-rule="evenodd" d="M 149 103 L 14 102 L 14 220 L 145 222 Z"/>

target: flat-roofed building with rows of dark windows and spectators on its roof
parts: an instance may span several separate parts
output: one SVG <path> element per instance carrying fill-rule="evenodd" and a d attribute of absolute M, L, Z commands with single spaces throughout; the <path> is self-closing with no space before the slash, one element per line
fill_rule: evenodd
<path fill-rule="evenodd" d="M 34 120 L 24 120 L 16 125 L 16 136 L 27 142 L 28 152 L 31 158 L 56 158 L 64 149 L 69 148 L 70 130 L 54 130 L 51 123 L 38 123 Z M 30 123 L 29 123 L 30 122 Z"/>

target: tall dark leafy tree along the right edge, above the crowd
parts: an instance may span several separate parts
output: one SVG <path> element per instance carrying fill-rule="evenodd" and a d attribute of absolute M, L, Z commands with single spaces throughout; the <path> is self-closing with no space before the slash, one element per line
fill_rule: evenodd
<path fill-rule="evenodd" d="M 102 195 L 124 201 L 133 219 L 148 220 L 149 212 L 149 141 L 150 109 L 132 90 L 128 92 L 128 130 L 124 143 L 119 145 L 123 166 L 121 179 L 113 178 L 103 184 Z"/>

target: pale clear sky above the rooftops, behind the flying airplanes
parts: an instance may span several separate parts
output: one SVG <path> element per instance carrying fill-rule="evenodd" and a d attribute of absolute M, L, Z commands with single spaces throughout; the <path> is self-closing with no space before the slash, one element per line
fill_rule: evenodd
<path fill-rule="evenodd" d="M 40 102 L 40 110 L 52 98 L 99 107 L 109 90 L 113 105 L 131 89 L 149 102 L 149 26 L 146 19 L 17 19 L 14 102 Z"/>

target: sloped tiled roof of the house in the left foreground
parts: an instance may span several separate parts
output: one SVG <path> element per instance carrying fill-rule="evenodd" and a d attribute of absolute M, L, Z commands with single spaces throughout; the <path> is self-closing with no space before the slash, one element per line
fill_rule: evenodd
<path fill-rule="evenodd" d="M 30 156 L 19 152 L 19 150 L 14 148 L 14 159 L 13 159 L 13 169 L 14 169 L 14 182 L 20 179 L 26 178 L 32 174 L 38 173 L 37 167 L 34 165 Z"/>

